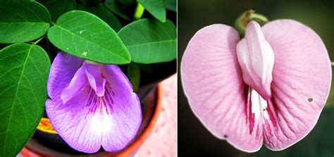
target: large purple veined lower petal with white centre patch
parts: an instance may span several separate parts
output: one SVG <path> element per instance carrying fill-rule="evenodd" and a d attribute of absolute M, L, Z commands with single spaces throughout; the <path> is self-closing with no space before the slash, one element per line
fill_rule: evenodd
<path fill-rule="evenodd" d="M 60 96 L 46 102 L 47 115 L 56 132 L 73 149 L 85 153 L 97 152 L 101 146 L 106 151 L 125 148 L 142 123 L 140 100 L 132 93 L 125 75 L 116 65 L 100 67 L 106 76 L 104 96 L 97 96 L 86 81 L 66 104 Z"/>

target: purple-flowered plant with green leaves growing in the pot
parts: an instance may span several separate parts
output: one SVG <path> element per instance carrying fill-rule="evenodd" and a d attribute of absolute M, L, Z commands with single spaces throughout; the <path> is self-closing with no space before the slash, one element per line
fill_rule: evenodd
<path fill-rule="evenodd" d="M 142 123 L 135 91 L 175 72 L 175 7 L 173 0 L 1 0 L 0 156 L 23 149 L 44 108 L 73 149 L 125 148 Z"/>

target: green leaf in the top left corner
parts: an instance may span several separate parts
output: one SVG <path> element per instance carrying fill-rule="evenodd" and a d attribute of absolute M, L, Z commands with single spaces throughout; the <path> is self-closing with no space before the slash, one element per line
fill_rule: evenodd
<path fill-rule="evenodd" d="M 0 43 L 28 42 L 41 37 L 50 25 L 47 8 L 35 1 L 0 5 Z"/>

